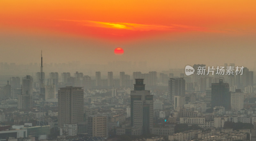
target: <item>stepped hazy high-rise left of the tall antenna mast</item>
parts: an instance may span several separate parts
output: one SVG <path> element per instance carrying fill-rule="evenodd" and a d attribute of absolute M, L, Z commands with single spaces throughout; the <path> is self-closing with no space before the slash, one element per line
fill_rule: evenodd
<path fill-rule="evenodd" d="M 18 95 L 18 109 L 31 109 L 33 106 L 33 77 L 27 75 L 22 79 L 21 95 Z"/>

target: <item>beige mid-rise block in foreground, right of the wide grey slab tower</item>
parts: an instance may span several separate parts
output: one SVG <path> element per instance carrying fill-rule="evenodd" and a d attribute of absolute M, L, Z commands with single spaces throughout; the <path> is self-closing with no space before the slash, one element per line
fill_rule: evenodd
<path fill-rule="evenodd" d="M 89 137 L 108 137 L 108 116 L 90 115 L 88 117 Z"/>

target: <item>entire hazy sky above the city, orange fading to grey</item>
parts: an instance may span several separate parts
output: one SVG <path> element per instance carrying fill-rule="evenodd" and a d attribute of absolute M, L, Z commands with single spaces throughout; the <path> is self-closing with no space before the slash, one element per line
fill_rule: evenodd
<path fill-rule="evenodd" d="M 43 50 L 48 64 L 140 60 L 163 69 L 225 62 L 255 66 L 252 0 L 100 3 L 1 1 L 0 60 L 30 63 Z M 117 47 L 123 55 L 114 54 Z"/>

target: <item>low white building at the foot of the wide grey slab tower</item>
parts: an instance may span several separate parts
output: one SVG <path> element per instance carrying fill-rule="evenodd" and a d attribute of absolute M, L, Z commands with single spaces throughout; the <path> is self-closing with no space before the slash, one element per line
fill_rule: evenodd
<path fill-rule="evenodd" d="M 60 128 L 60 136 L 76 136 L 77 124 L 63 124 Z"/>

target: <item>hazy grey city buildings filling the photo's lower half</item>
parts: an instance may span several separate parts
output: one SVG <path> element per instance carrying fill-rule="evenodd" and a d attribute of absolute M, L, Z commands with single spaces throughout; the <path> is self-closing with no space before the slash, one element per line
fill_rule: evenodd
<path fill-rule="evenodd" d="M 63 70 L 59 80 L 58 72 L 43 72 L 42 61 L 41 57 L 40 72 L 12 76 L 0 86 L 0 140 L 256 137 L 255 77 L 246 67 L 243 75 L 189 76 L 184 69 L 132 75 L 124 71 L 71 75 Z M 195 64 L 195 72 L 198 67 L 206 65 Z M 248 129 L 228 128 L 236 123 Z M 181 125 L 186 130 L 180 130 Z"/>

